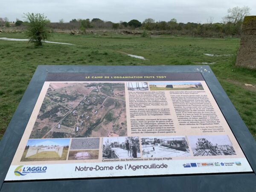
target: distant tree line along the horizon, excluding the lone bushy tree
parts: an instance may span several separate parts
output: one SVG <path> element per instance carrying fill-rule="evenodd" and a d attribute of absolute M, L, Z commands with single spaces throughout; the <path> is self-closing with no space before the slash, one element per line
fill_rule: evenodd
<path fill-rule="evenodd" d="M 223 35 L 241 35 L 241 26 L 243 18 L 250 14 L 250 8 L 234 7 L 227 10 L 227 15 L 223 17 L 222 22 L 213 23 L 213 18 L 209 17 L 207 23 L 178 23 L 175 18 L 169 21 L 155 21 L 152 18 L 147 18 L 143 22 L 132 19 L 128 22 L 120 21 L 113 23 L 111 21 L 104 21 L 99 18 L 90 19 L 72 19 L 69 22 L 64 22 L 63 19 L 59 22 L 51 23 L 49 20 L 49 28 L 62 29 L 62 30 L 79 30 L 86 33 L 90 29 L 139 29 L 147 31 L 168 31 L 180 35 L 199 35 L 199 36 L 212 36 L 219 37 Z M 13 23 L 13 24 L 12 24 Z M 9 22 L 8 18 L 0 17 L 0 26 L 22 26 L 23 21 L 16 19 L 16 22 Z"/>

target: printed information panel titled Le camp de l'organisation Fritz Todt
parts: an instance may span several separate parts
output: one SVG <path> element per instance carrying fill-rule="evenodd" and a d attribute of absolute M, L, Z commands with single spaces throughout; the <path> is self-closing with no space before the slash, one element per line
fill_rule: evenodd
<path fill-rule="evenodd" d="M 201 73 L 48 73 L 5 180 L 252 172 Z"/>

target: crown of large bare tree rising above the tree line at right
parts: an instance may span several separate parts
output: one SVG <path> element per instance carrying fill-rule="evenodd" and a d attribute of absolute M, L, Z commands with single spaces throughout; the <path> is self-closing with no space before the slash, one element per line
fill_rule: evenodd
<path fill-rule="evenodd" d="M 228 15 L 223 18 L 224 23 L 231 22 L 235 25 L 244 20 L 244 16 L 250 14 L 250 8 L 248 6 L 233 7 L 227 10 Z"/>

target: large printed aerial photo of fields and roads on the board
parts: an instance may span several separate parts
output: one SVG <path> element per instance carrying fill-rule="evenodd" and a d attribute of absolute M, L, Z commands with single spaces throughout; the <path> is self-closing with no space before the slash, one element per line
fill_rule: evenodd
<path fill-rule="evenodd" d="M 124 83 L 50 83 L 30 139 L 127 134 Z"/>

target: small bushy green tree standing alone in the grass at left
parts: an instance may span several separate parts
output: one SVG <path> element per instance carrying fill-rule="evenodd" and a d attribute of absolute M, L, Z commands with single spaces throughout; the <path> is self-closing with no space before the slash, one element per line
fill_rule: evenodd
<path fill-rule="evenodd" d="M 42 46 L 42 42 L 52 36 L 47 28 L 50 21 L 41 13 L 27 13 L 24 15 L 25 23 L 28 26 L 26 36 L 29 38 L 29 43 Z"/>

